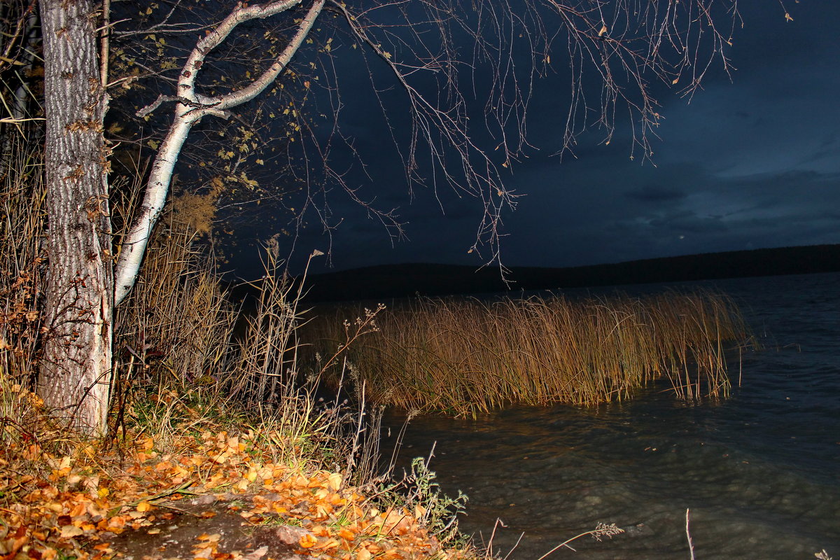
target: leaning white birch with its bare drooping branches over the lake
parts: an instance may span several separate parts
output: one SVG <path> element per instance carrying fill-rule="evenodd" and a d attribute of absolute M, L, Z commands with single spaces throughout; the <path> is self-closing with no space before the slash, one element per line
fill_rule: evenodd
<path fill-rule="evenodd" d="M 166 177 L 174 169 L 170 164 L 184 148 L 186 133 L 205 116 L 230 118 L 240 102 L 276 86 L 297 50 L 304 49 L 312 67 L 313 61 L 318 62 L 321 76 L 304 64 L 294 70 L 297 76 L 308 71 L 307 87 L 311 84 L 313 89 L 318 77 L 325 78 L 320 84 L 331 97 L 326 113 L 334 120 L 325 140 L 312 129 L 315 115 L 307 121 L 297 106 L 297 113 L 292 112 L 295 118 L 288 117 L 297 119 L 297 145 L 309 141 L 309 151 L 302 156 L 308 165 L 302 181 L 306 192 L 294 205 L 299 214 L 292 221 L 300 224 L 303 212 L 312 212 L 329 232 L 340 217 L 329 222 L 327 192 L 330 186 L 339 186 L 338 191 L 364 206 L 387 232 L 395 237 L 402 234 L 400 217 L 390 208 L 371 203 L 377 193 L 365 195 L 364 188 L 347 184 L 343 170 L 333 169 L 330 161 L 336 144 L 353 152 L 354 141 L 341 132 L 342 86 L 334 72 L 328 76 L 329 68 L 358 65 L 361 60 L 358 73 L 370 78 L 370 95 L 380 97 L 382 111 L 391 113 L 386 120 L 397 157 L 402 158 L 407 189 L 423 186 L 432 196 L 443 196 L 445 187 L 455 196 L 475 198 L 484 212 L 476 224 L 475 239 L 465 249 L 482 253 L 487 262 L 498 262 L 501 217 L 516 207 L 517 200 L 504 177 L 530 149 L 526 116 L 539 79 L 556 71 L 570 79 L 569 94 L 559 94 L 564 102 L 557 106 L 559 112 L 566 112 L 566 126 L 558 134 L 559 151 L 574 151 L 578 135 L 588 127 L 600 128 L 603 141 L 609 144 L 624 113 L 623 120 L 633 131 L 631 156 L 645 157 L 651 153 L 660 118 L 653 93 L 657 83 L 690 96 L 712 63 L 717 61 L 728 71 L 725 48 L 738 18 L 734 0 L 714 5 L 706 0 L 647 0 L 632 7 L 622 1 L 598 0 L 502 0 L 470 6 L 452 0 L 302 0 L 240 7 L 235 13 L 224 18 L 197 47 L 209 50 L 192 50 L 189 60 L 179 64 L 176 94 L 162 95 L 139 110 L 139 115 L 148 117 L 176 102 L 171 128 L 155 154 L 154 183 L 148 183 L 139 220 L 120 256 L 117 301 L 128 293 L 137 275 L 144 240 L 165 201 Z M 259 79 L 239 81 L 226 94 L 202 97 L 210 84 L 199 79 L 202 68 L 189 65 L 209 60 L 211 51 L 232 39 L 241 24 L 270 14 L 295 30 L 281 55 Z M 311 17 L 318 18 L 317 33 Z M 720 26 L 721 20 L 729 21 L 729 26 Z M 160 26 L 149 29 L 157 32 Z M 160 40 L 160 33 L 154 36 Z M 336 40 L 329 43 L 333 37 Z M 260 41 L 258 35 L 255 41 Z M 269 47 L 265 42 L 265 48 Z M 344 51 L 337 54 L 340 48 Z M 360 52 L 364 58 L 353 58 L 350 52 Z M 286 61 L 278 64 L 280 60 Z M 388 88 L 402 92 L 402 102 L 396 107 L 391 107 L 394 96 L 381 97 Z M 475 95 L 476 91 L 480 95 Z M 185 92 L 193 97 L 185 97 Z M 284 97 L 295 101 L 295 95 L 286 90 Z M 400 121 L 407 122 L 393 124 Z M 482 143 L 476 132 L 490 139 Z M 312 167 L 317 165 L 325 176 L 322 182 L 312 181 Z"/>

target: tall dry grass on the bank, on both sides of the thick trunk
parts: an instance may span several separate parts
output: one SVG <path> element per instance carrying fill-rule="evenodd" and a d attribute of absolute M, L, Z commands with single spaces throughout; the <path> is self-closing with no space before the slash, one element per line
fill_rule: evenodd
<path fill-rule="evenodd" d="M 63 455 L 83 439 L 53 421 L 33 393 L 41 351 L 45 187 L 37 131 L 26 132 L 31 135 L 3 129 L 9 151 L 0 160 L 0 446 L 21 461 L 39 456 L 25 451 L 32 446 Z M 129 181 L 116 189 L 123 195 L 113 207 L 118 230 L 130 222 L 137 200 Z M 137 285 L 115 317 L 108 444 L 140 432 L 165 445 L 184 432 L 251 429 L 284 463 L 345 471 L 373 463 L 357 433 L 369 427 L 369 416 L 319 400 L 318 376 L 298 373 L 300 290 L 292 290 L 276 259 L 255 285 L 260 305 L 244 337 L 234 340 L 239 309 L 190 217 L 173 207 L 161 218 Z M 335 367 L 339 357 L 323 369 Z M 37 460 L 24 463 L 18 466 L 26 471 L 50 468 Z M 358 468 L 355 475 L 365 476 Z"/>

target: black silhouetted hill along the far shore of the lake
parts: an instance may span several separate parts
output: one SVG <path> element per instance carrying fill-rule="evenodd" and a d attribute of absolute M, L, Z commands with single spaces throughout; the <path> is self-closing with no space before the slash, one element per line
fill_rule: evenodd
<path fill-rule="evenodd" d="M 511 290 L 717 280 L 840 271 L 840 244 L 727 251 L 554 269 L 513 267 Z M 312 275 L 307 301 L 391 299 L 504 291 L 499 270 L 457 264 L 383 264 Z"/>

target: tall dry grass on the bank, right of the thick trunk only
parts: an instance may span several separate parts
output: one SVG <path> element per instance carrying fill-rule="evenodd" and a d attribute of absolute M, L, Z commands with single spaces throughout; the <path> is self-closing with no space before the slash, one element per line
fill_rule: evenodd
<path fill-rule="evenodd" d="M 255 312 L 241 317 L 184 216 L 169 207 L 154 239 L 118 311 L 113 433 L 141 427 L 165 441 L 211 426 L 249 428 L 278 462 L 351 474 L 370 452 L 355 429 L 360 416 L 319 399 L 318 375 L 300 373 L 300 287 L 276 254 L 267 253 L 265 275 L 251 285 Z M 246 326 L 234 337 L 238 322 Z"/>

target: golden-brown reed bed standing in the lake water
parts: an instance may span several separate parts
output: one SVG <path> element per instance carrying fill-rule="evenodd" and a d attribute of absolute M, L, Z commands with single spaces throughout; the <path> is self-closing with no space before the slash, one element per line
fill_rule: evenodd
<path fill-rule="evenodd" d="M 342 340 L 321 319 L 319 352 Z M 667 379 L 682 399 L 728 395 L 725 350 L 752 343 L 738 307 L 704 290 L 570 301 L 418 299 L 376 317 L 349 349 L 367 398 L 407 410 L 475 414 L 509 404 L 595 405 Z"/>

